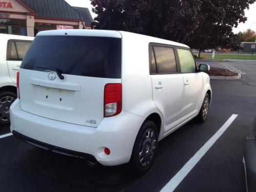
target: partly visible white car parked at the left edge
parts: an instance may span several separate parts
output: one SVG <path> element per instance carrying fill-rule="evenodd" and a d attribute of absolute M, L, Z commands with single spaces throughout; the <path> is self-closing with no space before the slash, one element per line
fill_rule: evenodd
<path fill-rule="evenodd" d="M 10 106 L 17 98 L 16 74 L 33 39 L 0 34 L 0 126 L 10 123 Z"/>

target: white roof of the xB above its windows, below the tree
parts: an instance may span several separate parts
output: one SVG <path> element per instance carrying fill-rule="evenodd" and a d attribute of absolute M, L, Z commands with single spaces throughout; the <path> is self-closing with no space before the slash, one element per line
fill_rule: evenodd
<path fill-rule="evenodd" d="M 179 47 L 189 48 L 188 46 L 181 44 L 179 42 L 161 39 L 157 37 L 141 35 L 137 33 L 131 33 L 126 31 L 113 31 L 113 30 L 92 30 L 92 29 L 72 29 L 72 30 L 51 30 L 51 31 L 41 31 L 37 33 L 36 36 L 52 36 L 52 35 L 71 35 L 71 36 L 98 36 L 98 37 L 114 37 L 114 38 L 132 38 L 134 35 L 140 35 L 143 39 L 148 42 L 155 42 L 159 44 L 167 44 Z"/>

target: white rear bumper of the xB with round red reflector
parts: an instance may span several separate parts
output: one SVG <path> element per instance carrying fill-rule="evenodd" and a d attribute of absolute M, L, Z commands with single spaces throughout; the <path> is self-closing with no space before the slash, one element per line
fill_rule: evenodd
<path fill-rule="evenodd" d="M 25 112 L 20 109 L 19 99 L 11 105 L 10 119 L 11 132 L 25 141 L 33 141 L 31 144 L 65 155 L 90 156 L 106 166 L 130 161 L 144 121 L 140 116 L 123 111 L 104 118 L 97 128 L 76 125 Z M 104 154 L 104 147 L 110 148 L 110 155 Z"/>

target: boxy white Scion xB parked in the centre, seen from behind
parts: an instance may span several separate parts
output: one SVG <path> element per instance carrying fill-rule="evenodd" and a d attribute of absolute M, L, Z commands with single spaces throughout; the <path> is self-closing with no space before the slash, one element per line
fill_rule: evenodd
<path fill-rule="evenodd" d="M 209 69 L 178 42 L 123 31 L 40 32 L 23 60 L 13 135 L 47 150 L 135 173 L 158 141 L 211 100 Z"/>

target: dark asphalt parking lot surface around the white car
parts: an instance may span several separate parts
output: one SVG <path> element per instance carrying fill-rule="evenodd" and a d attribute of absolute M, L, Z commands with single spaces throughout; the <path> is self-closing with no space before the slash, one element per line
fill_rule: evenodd
<path fill-rule="evenodd" d="M 0 191 L 160 191 L 232 114 L 238 117 L 175 191 L 246 191 L 242 159 L 246 130 L 256 116 L 256 60 L 208 63 L 228 63 L 245 74 L 239 80 L 211 80 L 207 121 L 191 120 L 163 139 L 144 176 L 129 175 L 123 166 L 90 167 L 82 159 L 40 150 L 9 136 L 0 139 Z M 9 132 L 9 127 L 0 129 L 0 135 Z"/>

